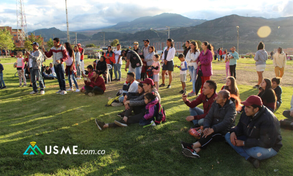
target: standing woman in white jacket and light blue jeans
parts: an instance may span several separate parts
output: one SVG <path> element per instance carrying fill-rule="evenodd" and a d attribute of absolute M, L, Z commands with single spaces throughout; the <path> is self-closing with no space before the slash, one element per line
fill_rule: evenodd
<path fill-rule="evenodd" d="M 200 55 L 200 51 L 198 49 L 197 43 L 195 41 L 190 42 L 190 50 L 188 51 L 186 55 L 186 61 L 188 63 L 188 71 L 189 75 L 191 76 L 192 80 L 192 91 L 188 93 L 188 96 L 194 96 L 195 95 L 195 81 L 197 76 L 197 59 Z"/>

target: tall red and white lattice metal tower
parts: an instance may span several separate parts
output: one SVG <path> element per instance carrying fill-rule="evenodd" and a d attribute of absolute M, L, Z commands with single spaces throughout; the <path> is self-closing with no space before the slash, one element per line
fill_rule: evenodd
<path fill-rule="evenodd" d="M 23 0 L 16 0 L 17 38 L 20 43 L 16 48 L 24 48 L 25 37 L 28 37 Z"/>

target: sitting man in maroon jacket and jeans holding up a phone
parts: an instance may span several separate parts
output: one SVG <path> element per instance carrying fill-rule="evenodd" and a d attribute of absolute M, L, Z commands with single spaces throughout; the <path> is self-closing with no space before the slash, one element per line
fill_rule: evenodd
<path fill-rule="evenodd" d="M 186 121 L 192 121 L 195 126 L 201 126 L 204 118 L 209 112 L 214 99 L 217 97 L 217 83 L 212 80 L 207 80 L 200 94 L 195 100 L 189 101 L 187 95 L 182 95 L 184 103 L 189 107 L 190 116 L 186 117 Z M 203 104 L 203 110 L 197 106 Z"/>

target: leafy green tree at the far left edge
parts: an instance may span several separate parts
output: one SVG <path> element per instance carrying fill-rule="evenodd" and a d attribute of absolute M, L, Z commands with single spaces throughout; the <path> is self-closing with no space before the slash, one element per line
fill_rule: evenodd
<path fill-rule="evenodd" d="M 6 30 L 6 28 L 4 28 L 4 30 L 0 29 L 0 48 L 3 48 L 5 51 L 13 50 L 15 48 L 15 45 L 13 43 L 13 35 L 11 35 L 10 32 Z"/>

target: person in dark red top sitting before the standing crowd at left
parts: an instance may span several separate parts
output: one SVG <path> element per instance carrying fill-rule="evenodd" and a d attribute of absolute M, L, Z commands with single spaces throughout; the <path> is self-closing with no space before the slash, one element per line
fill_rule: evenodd
<path fill-rule="evenodd" d="M 92 77 L 88 77 L 84 73 L 82 73 L 81 75 L 86 78 L 84 80 L 84 84 L 86 84 L 84 86 L 84 89 L 86 90 L 84 94 L 88 96 L 94 96 L 95 94 L 101 95 L 105 92 L 106 87 L 104 79 L 98 75 L 97 70 L 93 71 Z"/>

